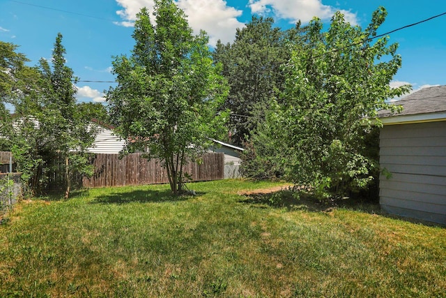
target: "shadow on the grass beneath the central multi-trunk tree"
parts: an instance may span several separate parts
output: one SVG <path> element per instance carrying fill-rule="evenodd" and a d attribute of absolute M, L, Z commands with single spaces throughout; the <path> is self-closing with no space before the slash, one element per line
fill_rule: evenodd
<path fill-rule="evenodd" d="M 162 191 L 129 191 L 110 193 L 96 197 L 93 204 L 128 204 L 132 202 L 178 202 L 188 200 L 190 195 L 174 195 L 170 190 Z"/>

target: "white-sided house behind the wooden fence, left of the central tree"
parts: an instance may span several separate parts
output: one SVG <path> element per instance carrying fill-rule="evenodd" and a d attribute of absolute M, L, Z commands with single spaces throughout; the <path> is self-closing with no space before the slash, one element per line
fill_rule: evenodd
<path fill-rule="evenodd" d="M 96 135 L 93 147 L 89 148 L 89 152 L 98 154 L 119 154 L 119 151 L 125 146 L 125 140 L 121 140 L 113 133 L 113 126 L 103 124 L 102 122 L 92 119 L 93 125 L 99 126 L 100 131 Z"/>

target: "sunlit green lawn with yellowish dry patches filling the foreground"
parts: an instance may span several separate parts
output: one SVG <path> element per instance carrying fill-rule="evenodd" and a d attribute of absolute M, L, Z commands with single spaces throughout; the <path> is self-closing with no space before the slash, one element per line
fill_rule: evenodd
<path fill-rule="evenodd" d="M 0 225 L 0 297 L 446 297 L 445 228 L 237 194 L 277 185 L 21 202 Z"/>

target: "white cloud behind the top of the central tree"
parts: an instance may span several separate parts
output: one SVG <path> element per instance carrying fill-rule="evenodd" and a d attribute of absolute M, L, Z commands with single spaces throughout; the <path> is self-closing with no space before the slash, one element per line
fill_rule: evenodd
<path fill-rule="evenodd" d="M 115 24 L 127 27 L 133 25 L 142 7 L 145 6 L 152 12 L 154 6 L 153 0 L 116 0 L 116 2 L 123 7 L 123 10 L 116 12 L 123 22 Z M 243 23 L 237 20 L 237 17 L 242 15 L 242 10 L 228 6 L 224 0 L 178 0 L 176 3 L 184 10 L 194 33 L 199 33 L 201 29 L 206 30 L 210 45 L 215 45 L 218 39 L 223 43 L 232 42 L 236 29 L 243 27 Z"/>

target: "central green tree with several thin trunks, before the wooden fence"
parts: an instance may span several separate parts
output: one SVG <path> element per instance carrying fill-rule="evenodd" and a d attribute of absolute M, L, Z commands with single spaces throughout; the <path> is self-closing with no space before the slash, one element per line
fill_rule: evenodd
<path fill-rule="evenodd" d="M 217 114 L 227 88 L 213 64 L 208 37 L 192 35 L 185 14 L 171 0 L 155 1 L 155 22 L 146 8 L 134 25 L 130 57 L 116 57 L 118 86 L 107 92 L 112 124 L 126 151 L 146 151 L 167 168 L 171 191 L 182 191 L 187 157 L 197 158 L 222 130 Z"/>

